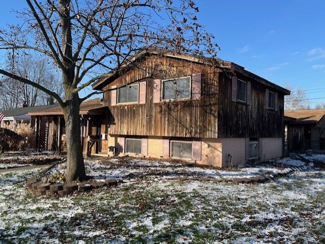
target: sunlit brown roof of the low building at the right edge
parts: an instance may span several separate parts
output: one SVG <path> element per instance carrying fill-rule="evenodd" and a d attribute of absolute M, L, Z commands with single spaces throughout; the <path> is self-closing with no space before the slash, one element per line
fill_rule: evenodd
<path fill-rule="evenodd" d="M 317 124 L 319 120 L 325 115 L 323 109 L 304 109 L 304 110 L 285 110 L 285 121 L 289 121 L 291 118 L 295 120 L 295 123 Z"/>

